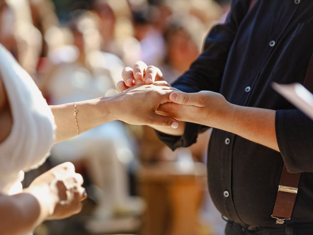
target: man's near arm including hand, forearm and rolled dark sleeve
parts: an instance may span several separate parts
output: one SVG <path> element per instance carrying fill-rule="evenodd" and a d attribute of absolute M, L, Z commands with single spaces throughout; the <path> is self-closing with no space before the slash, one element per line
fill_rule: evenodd
<path fill-rule="evenodd" d="M 173 93 L 157 112 L 209 125 L 281 153 L 290 172 L 313 172 L 313 121 L 299 110 L 268 110 L 228 103 L 214 92 Z"/>

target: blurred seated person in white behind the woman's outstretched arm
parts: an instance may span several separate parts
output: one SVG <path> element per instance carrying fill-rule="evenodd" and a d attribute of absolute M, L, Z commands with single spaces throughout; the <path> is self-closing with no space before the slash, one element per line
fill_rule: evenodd
<path fill-rule="evenodd" d="M 42 87 L 51 104 L 92 99 L 116 94 L 123 62 L 115 55 L 100 50 L 98 22 L 91 12 L 74 18 L 69 29 L 73 45 L 51 50 L 52 63 Z M 66 55 L 66 56 L 64 56 Z M 65 59 L 65 60 L 64 60 Z M 130 137 L 119 121 L 102 124 L 76 138 L 56 144 L 52 159 L 81 162 L 84 160 L 92 183 L 97 190 L 97 219 L 108 223 L 117 212 L 140 214 L 139 198 L 129 197 L 127 167 L 134 161 Z"/>

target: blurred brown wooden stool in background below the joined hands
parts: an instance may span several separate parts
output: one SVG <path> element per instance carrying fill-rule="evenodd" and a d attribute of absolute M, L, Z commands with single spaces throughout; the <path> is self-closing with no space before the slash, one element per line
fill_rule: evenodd
<path fill-rule="evenodd" d="M 142 235 L 202 235 L 199 210 L 206 187 L 206 167 L 195 163 L 142 166 L 139 194 L 147 203 Z"/>

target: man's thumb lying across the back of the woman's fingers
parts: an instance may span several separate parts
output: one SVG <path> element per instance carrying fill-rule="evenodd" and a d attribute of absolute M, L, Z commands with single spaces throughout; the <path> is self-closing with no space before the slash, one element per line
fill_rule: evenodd
<path fill-rule="evenodd" d="M 173 92 L 170 94 L 170 101 L 182 104 L 182 105 L 193 105 L 202 107 L 201 105 L 202 96 L 199 93 L 184 93 L 184 92 Z"/>

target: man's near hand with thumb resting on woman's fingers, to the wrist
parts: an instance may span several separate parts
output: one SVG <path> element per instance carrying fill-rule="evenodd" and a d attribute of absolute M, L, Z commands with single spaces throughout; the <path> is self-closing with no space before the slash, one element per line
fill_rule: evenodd
<path fill-rule="evenodd" d="M 220 127 L 221 121 L 231 117 L 233 112 L 233 106 L 215 92 L 174 92 L 170 94 L 170 101 L 172 103 L 162 104 L 156 113 L 211 127 Z"/>

